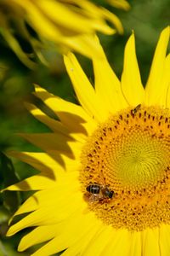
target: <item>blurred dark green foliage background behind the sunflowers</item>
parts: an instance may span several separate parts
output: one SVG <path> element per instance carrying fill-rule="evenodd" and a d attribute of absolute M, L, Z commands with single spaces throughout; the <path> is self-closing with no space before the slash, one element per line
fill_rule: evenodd
<path fill-rule="evenodd" d="M 124 46 L 132 30 L 134 31 L 139 68 L 143 84 L 145 84 L 159 34 L 164 27 L 169 25 L 170 0 L 131 0 L 129 1 L 131 9 L 127 12 L 111 7 L 105 0 L 92 2 L 110 9 L 122 20 L 124 27 L 122 36 L 118 34 L 105 36 L 98 33 L 111 67 L 119 78 L 122 73 Z M 0 188 L 18 182 L 35 172 L 31 166 L 5 156 L 4 153 L 11 149 L 37 151 L 37 148 L 14 134 L 49 131 L 45 125 L 42 125 L 26 111 L 24 102 L 33 102 L 49 116 L 54 117 L 42 102 L 31 95 L 34 90 L 33 84 L 39 84 L 67 101 L 77 102 L 70 79 L 65 72 L 62 56 L 56 51 L 54 45 L 51 44 L 47 49 L 43 49 L 43 55 L 47 60 L 44 65 L 32 52 L 31 45 L 20 38 L 20 34 L 17 32 L 15 32 L 15 36 L 23 49 L 32 55 L 36 65 L 33 68 L 26 67 L 14 54 L 14 51 L 8 47 L 0 34 Z M 82 55 L 77 54 L 77 57 L 88 78 L 93 81 L 91 61 Z M 31 254 L 31 249 L 26 253 L 17 253 L 20 238 L 27 230 L 21 231 L 13 237 L 5 237 L 8 218 L 28 195 L 28 193 L 16 192 L 5 192 L 0 195 L 0 256 Z"/>

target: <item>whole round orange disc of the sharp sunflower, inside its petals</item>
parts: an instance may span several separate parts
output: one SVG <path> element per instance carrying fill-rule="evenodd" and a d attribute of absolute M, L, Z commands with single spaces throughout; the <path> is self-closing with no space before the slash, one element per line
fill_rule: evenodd
<path fill-rule="evenodd" d="M 111 116 L 88 137 L 81 161 L 84 200 L 104 224 L 138 231 L 170 224 L 168 109 L 140 106 Z M 91 195 L 90 183 L 114 195 Z"/>

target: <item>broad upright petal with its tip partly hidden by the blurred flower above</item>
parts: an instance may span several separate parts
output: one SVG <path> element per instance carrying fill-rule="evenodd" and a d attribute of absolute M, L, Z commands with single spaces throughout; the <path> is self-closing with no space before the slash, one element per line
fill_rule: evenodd
<path fill-rule="evenodd" d="M 102 55 L 101 58 L 93 58 L 96 95 L 109 114 L 116 113 L 122 108 L 127 108 L 127 102 L 122 96 L 121 83 L 111 69 L 99 39 L 95 38 L 95 41 Z"/>

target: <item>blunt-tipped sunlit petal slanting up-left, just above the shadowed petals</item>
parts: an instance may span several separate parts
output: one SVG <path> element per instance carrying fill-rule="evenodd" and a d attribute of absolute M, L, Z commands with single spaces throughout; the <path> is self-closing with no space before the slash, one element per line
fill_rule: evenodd
<path fill-rule="evenodd" d="M 71 78 L 71 82 L 82 108 L 84 108 L 92 118 L 94 117 L 94 119 L 97 119 L 99 122 L 107 119 L 108 114 L 105 110 L 105 106 L 102 102 L 99 102 L 99 98 L 96 96 L 94 88 L 89 83 L 88 78 L 82 71 L 82 67 L 79 65 L 73 54 L 70 53 L 67 56 L 65 55 L 65 67 Z"/>

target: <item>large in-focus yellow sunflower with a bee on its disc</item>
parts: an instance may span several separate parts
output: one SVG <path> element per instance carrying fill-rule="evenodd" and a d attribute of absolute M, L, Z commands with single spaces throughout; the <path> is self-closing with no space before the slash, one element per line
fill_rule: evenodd
<path fill-rule="evenodd" d="M 33 256 L 168 256 L 170 252 L 170 29 L 161 32 L 145 89 L 127 41 L 122 79 L 94 57 L 95 88 L 76 57 L 65 66 L 81 106 L 36 85 L 35 95 L 56 113 L 30 112 L 54 131 L 22 134 L 44 152 L 11 152 L 40 171 L 8 190 L 37 190 L 15 212 L 25 217 L 7 236 L 32 227 L 19 251 L 45 242 Z"/>

